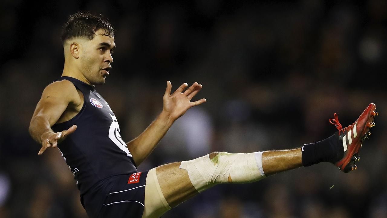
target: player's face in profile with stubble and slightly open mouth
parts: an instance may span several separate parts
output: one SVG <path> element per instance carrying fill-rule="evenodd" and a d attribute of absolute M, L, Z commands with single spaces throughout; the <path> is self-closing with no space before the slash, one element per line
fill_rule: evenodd
<path fill-rule="evenodd" d="M 82 43 L 82 53 L 79 57 L 80 70 L 93 85 L 105 83 L 111 69 L 110 63 L 113 62 L 111 53 L 116 47 L 114 37 L 102 35 L 103 33 L 104 30 L 99 29 L 91 41 Z"/>

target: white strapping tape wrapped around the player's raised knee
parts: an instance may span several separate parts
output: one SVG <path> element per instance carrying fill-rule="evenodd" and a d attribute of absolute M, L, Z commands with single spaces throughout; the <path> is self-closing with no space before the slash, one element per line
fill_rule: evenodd
<path fill-rule="evenodd" d="M 188 171 L 188 176 L 198 192 L 219 183 L 250 183 L 265 177 L 262 169 L 262 152 L 229 154 L 219 152 L 212 159 L 207 154 L 190 161 L 182 161 L 180 168 Z"/>

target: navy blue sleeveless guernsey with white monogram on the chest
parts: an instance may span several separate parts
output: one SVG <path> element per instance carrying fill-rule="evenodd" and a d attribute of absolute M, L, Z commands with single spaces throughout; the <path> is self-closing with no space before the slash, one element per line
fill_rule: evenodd
<path fill-rule="evenodd" d="M 110 176 L 137 173 L 109 104 L 92 86 L 80 80 L 62 76 L 56 81 L 60 80 L 72 82 L 84 97 L 83 107 L 74 118 L 51 127 L 58 132 L 77 125 L 77 130 L 58 144 L 58 148 L 74 174 L 80 195 Z"/>

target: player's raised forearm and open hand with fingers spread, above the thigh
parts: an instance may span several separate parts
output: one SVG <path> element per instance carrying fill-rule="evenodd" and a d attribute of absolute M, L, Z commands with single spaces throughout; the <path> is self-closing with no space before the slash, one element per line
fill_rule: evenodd
<path fill-rule="evenodd" d="M 172 84 L 170 81 L 167 81 L 167 88 L 163 97 L 163 111 L 139 137 L 127 143 L 128 149 L 133 155 L 134 162 L 137 166 L 153 151 L 176 119 L 183 116 L 190 107 L 205 102 L 205 99 L 190 102 L 202 89 L 202 85 L 195 82 L 191 87 L 187 87 L 188 84 L 183 83 L 183 85 L 171 94 Z M 185 90 L 186 88 L 187 90 Z"/>

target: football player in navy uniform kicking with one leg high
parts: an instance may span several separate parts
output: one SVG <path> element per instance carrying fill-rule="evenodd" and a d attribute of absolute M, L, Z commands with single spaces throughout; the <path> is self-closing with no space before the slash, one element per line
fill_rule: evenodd
<path fill-rule="evenodd" d="M 163 111 L 130 142 L 123 142 L 118 120 L 95 90 L 105 83 L 113 62 L 114 30 L 103 17 L 76 12 L 65 24 L 65 64 L 60 78 L 43 90 L 29 132 L 41 144 L 38 154 L 59 147 L 80 190 L 90 217 L 153 218 L 220 183 L 250 183 L 301 166 L 330 162 L 341 171 L 356 170 L 358 151 L 378 113 L 370 104 L 352 125 L 342 128 L 337 114 L 330 122 L 337 132 L 302 148 L 248 154 L 213 152 L 190 161 L 165 164 L 149 171 L 136 167 L 153 151 L 171 125 L 190 107 L 202 89 L 181 85 L 171 94 L 167 81 Z"/>

